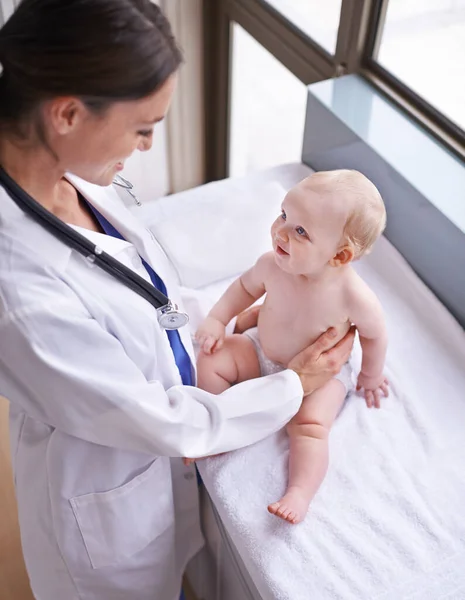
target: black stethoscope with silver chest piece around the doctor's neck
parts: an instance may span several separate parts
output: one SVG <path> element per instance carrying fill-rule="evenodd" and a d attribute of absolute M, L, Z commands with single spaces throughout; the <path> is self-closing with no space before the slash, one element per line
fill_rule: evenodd
<path fill-rule="evenodd" d="M 157 311 L 158 322 L 163 329 L 179 329 L 189 322 L 188 315 L 178 310 L 176 304 L 171 302 L 165 294 L 45 209 L 19 187 L 1 166 L 0 184 L 5 188 L 13 202 L 44 229 L 82 254 L 90 263 L 99 266 L 139 296 L 142 296 L 147 302 L 150 302 Z M 133 185 L 127 179 L 117 175 L 113 184 L 126 189 L 131 197 L 140 204 L 132 191 Z"/>

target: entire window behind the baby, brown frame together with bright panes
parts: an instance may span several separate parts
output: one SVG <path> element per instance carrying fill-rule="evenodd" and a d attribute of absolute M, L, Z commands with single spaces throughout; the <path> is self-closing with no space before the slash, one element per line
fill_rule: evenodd
<path fill-rule="evenodd" d="M 207 179 L 298 160 L 302 90 L 352 73 L 465 158 L 465 0 L 203 0 L 203 10 Z"/>

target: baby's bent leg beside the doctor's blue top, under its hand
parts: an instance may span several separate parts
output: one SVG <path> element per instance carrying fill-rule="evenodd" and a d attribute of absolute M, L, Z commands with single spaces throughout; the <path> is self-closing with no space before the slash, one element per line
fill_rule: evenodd
<path fill-rule="evenodd" d="M 235 383 L 260 376 L 260 365 L 252 340 L 246 335 L 228 336 L 221 350 L 200 353 L 197 385 L 212 394 L 221 394 Z"/>

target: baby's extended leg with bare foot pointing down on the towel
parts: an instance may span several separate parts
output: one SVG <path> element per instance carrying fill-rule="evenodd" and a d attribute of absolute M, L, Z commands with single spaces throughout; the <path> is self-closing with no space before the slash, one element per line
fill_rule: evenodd
<path fill-rule="evenodd" d="M 287 490 L 281 500 L 270 504 L 270 513 L 290 523 L 305 518 L 328 469 L 329 430 L 345 396 L 345 386 L 332 379 L 304 398 L 299 412 L 287 426 L 290 442 Z"/>

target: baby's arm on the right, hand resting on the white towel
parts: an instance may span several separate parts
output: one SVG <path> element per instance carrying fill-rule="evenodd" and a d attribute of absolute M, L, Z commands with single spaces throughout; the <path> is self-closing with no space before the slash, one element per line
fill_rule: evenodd
<path fill-rule="evenodd" d="M 379 408 L 381 395 L 388 395 L 383 374 L 387 331 L 383 309 L 374 292 L 362 280 L 350 292 L 350 319 L 357 327 L 362 346 L 362 369 L 358 389 L 364 388 L 367 406 Z"/>

